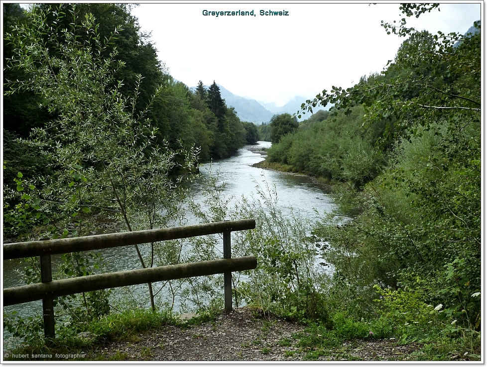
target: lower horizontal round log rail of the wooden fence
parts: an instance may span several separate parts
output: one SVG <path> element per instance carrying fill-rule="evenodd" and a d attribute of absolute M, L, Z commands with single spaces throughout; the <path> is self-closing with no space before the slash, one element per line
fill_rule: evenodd
<path fill-rule="evenodd" d="M 89 292 L 97 289 L 115 288 L 126 285 L 170 279 L 189 278 L 192 276 L 212 275 L 226 272 L 240 272 L 255 269 L 257 258 L 220 259 L 168 265 L 156 268 L 129 270 L 124 272 L 79 276 L 69 279 L 53 280 L 3 289 L 3 305 L 24 303 L 49 297 Z"/>

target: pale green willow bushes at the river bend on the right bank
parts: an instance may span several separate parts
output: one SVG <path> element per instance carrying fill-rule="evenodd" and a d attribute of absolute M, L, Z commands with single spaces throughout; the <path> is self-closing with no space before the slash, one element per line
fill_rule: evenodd
<path fill-rule="evenodd" d="M 378 133 L 362 129 L 363 116 L 364 108 L 356 106 L 348 116 L 340 112 L 333 119 L 305 120 L 294 134 L 272 145 L 268 159 L 314 176 L 362 185 L 384 162 L 374 146 Z"/>

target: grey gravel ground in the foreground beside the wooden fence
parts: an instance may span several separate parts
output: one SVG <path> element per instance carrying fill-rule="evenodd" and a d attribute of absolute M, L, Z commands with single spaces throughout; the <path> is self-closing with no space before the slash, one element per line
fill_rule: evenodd
<path fill-rule="evenodd" d="M 255 318 L 247 308 L 219 315 L 215 321 L 189 328 L 164 326 L 139 334 L 131 342 L 111 343 L 93 351 L 104 360 L 123 361 L 302 361 L 308 352 L 296 346 L 304 326 Z M 349 341 L 339 353 L 320 360 L 407 360 L 417 350 L 393 340 Z"/>

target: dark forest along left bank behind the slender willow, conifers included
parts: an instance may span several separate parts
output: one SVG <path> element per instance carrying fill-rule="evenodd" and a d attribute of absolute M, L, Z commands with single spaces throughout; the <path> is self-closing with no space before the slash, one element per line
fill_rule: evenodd
<path fill-rule="evenodd" d="M 135 114 L 140 114 L 150 100 L 151 106 L 146 111 L 146 118 L 150 126 L 157 129 L 157 144 L 165 140 L 169 148 L 174 150 L 196 147 L 200 162 L 229 157 L 245 144 L 254 144 L 258 140 L 256 126 L 240 121 L 235 110 L 225 104 L 215 82 L 207 87 L 200 81 L 197 90 L 193 92 L 170 76 L 165 65 L 157 59 L 156 49 L 148 41 L 148 35 L 139 31 L 137 20 L 130 15 L 130 6 L 82 4 L 77 6 L 76 13 L 72 15 L 81 19 L 90 12 L 97 19 L 103 19 L 98 28 L 102 39 L 110 37 L 113 29 L 120 27 L 111 44 L 102 52 L 102 55 L 108 56 L 116 49 L 117 55 L 113 61 L 120 63 L 113 75 L 112 85 L 106 88 L 113 87 L 115 81 L 122 81 L 120 93 L 124 98 L 129 98 L 130 93 L 136 90 Z M 59 38 L 62 37 L 62 27 L 70 24 L 71 18 L 67 14 L 71 7 L 70 4 L 63 4 L 55 10 L 48 4 L 38 6 L 46 22 L 53 21 L 58 14 L 65 14 L 56 23 L 56 29 L 53 29 Z M 18 4 L 5 4 L 3 14 L 3 34 L 10 33 L 18 23 L 28 26 L 28 18 Z M 50 57 L 54 57 L 60 44 L 53 44 L 56 41 L 47 39 L 47 35 L 42 37 Z M 5 42 L 4 61 L 11 59 L 13 52 L 13 44 Z M 8 61 L 4 62 L 4 65 L 7 64 Z M 9 66 L 3 76 L 4 86 L 13 86 L 11 83 L 22 80 L 26 73 L 25 69 L 13 61 Z M 58 117 L 46 105 L 41 94 L 25 89 L 4 95 L 4 183 L 13 183 L 18 171 L 30 176 L 44 173 L 39 170 L 46 166 L 45 162 L 32 162 L 31 158 L 39 157 L 39 154 L 22 140 L 29 138 L 36 128 L 46 128 Z M 39 105 L 42 107 L 38 108 Z"/>

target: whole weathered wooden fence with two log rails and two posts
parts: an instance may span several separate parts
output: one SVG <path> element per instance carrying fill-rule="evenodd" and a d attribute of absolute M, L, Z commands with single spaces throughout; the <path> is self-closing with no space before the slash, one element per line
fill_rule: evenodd
<path fill-rule="evenodd" d="M 3 245 L 4 260 L 40 257 L 41 282 L 3 288 L 3 305 L 8 306 L 42 299 L 44 335 L 47 338 L 54 338 L 53 299 L 55 297 L 105 288 L 223 273 L 225 310 L 230 311 L 232 310 L 232 272 L 250 270 L 257 267 L 255 256 L 231 257 L 231 232 L 254 228 L 254 219 L 244 219 L 145 231 L 5 244 Z M 217 233 L 223 233 L 224 258 L 220 260 L 52 280 L 51 255 L 93 251 Z"/>

